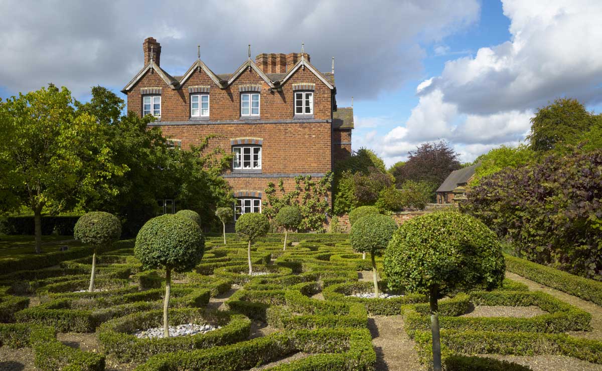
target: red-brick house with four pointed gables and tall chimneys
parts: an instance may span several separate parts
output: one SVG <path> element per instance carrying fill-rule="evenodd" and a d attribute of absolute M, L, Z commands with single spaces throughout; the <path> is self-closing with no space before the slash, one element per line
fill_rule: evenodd
<path fill-rule="evenodd" d="M 232 151 L 231 169 L 223 177 L 237 199 L 237 214 L 261 211 L 269 182 L 283 179 L 294 188 L 294 177 L 318 179 L 334 161 L 350 155 L 353 109 L 337 107 L 332 70 L 320 72 L 307 53 L 261 53 L 234 73 L 216 74 L 199 58 L 183 76 L 160 67 L 161 45 L 143 42 L 144 67 L 128 82 L 128 111 L 154 115 L 151 126 L 182 149 L 210 134 L 208 151 Z M 332 205 L 332 193 L 329 193 Z M 173 200 L 159 201 L 173 213 Z"/>

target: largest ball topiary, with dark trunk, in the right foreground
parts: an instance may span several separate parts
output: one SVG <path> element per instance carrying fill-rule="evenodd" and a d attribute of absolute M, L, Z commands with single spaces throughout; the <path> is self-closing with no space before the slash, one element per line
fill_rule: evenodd
<path fill-rule="evenodd" d="M 385 251 L 389 287 L 430 296 L 433 365 L 441 370 L 438 298 L 458 289 L 501 285 L 506 270 L 501 245 L 474 217 L 453 211 L 403 223 Z"/>

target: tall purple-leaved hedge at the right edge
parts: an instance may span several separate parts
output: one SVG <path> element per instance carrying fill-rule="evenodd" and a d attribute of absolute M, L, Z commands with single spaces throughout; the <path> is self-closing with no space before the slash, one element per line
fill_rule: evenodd
<path fill-rule="evenodd" d="M 530 261 L 602 280 L 602 149 L 551 155 L 480 180 L 463 210 Z"/>

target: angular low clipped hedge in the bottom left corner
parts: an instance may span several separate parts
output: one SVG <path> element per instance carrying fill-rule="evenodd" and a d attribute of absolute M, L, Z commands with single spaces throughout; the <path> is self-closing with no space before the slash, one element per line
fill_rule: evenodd
<path fill-rule="evenodd" d="M 34 364 L 42 370 L 103 371 L 102 354 L 82 352 L 59 342 L 52 327 L 24 324 L 0 324 L 0 346 L 34 349 Z"/>

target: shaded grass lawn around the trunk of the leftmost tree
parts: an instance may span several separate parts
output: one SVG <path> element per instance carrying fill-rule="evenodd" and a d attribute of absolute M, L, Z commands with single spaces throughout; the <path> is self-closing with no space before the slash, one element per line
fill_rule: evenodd
<path fill-rule="evenodd" d="M 73 236 L 42 236 L 42 252 L 55 252 L 61 246 L 82 246 Z M 0 237 L 0 260 L 23 258 L 36 255 L 36 239 L 31 235 L 10 235 Z"/>

